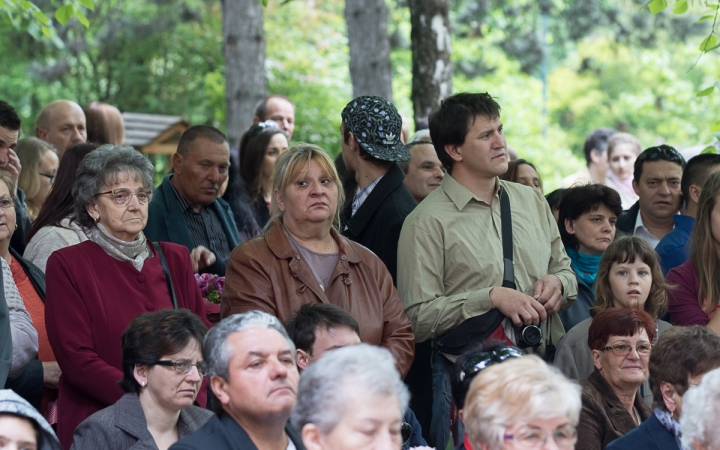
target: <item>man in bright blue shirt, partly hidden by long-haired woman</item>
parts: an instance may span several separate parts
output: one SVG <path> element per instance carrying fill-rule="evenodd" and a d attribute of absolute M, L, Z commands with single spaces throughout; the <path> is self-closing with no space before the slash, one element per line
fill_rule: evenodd
<path fill-rule="evenodd" d="M 720 170 L 720 155 L 697 155 L 688 161 L 683 172 L 680 188 L 683 195 L 683 214 L 673 216 L 675 228 L 666 234 L 657 247 L 663 274 L 687 261 L 687 241 L 695 226 L 698 199 L 705 180 L 715 170 Z"/>

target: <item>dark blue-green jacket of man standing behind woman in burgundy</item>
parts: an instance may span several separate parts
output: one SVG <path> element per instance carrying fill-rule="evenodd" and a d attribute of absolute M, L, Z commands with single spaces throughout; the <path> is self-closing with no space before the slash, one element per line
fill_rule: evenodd
<path fill-rule="evenodd" d="M 227 236 L 230 252 L 232 252 L 235 247 L 240 245 L 241 240 L 230 205 L 225 200 L 218 198 L 212 202 L 212 207 L 220 219 L 225 236 Z M 148 222 L 143 232 L 151 241 L 173 242 L 184 245 L 190 251 L 195 248 L 185 214 L 180 209 L 173 187 L 170 185 L 170 175 L 166 176 L 160 186 L 155 189 L 155 195 L 148 210 Z M 227 261 L 217 260 L 215 264 L 200 272 L 225 276 L 226 266 Z"/>

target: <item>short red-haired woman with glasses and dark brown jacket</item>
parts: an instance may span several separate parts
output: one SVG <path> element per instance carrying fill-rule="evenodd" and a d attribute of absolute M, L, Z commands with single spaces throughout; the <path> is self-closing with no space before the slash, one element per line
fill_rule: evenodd
<path fill-rule="evenodd" d="M 604 449 L 652 414 L 638 395 L 648 378 L 655 321 L 642 310 L 609 308 L 593 319 L 588 333 L 595 371 L 580 384 L 579 450 Z"/>

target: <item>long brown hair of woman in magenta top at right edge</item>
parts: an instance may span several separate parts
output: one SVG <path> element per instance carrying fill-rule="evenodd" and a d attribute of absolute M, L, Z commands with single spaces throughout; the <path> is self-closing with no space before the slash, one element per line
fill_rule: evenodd
<path fill-rule="evenodd" d="M 720 195 L 720 172 L 714 172 L 703 185 L 698 200 L 695 228 L 690 236 L 692 242 L 690 261 L 700 280 L 698 303 L 706 314 L 710 314 L 715 309 L 715 305 L 720 303 L 720 282 L 717 279 L 720 258 L 715 244 L 720 236 L 712 235 L 712 213 L 717 206 L 718 195 Z"/>

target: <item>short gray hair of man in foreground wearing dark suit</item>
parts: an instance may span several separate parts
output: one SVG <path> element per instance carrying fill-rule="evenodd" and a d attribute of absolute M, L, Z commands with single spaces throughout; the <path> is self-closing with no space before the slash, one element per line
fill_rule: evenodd
<path fill-rule="evenodd" d="M 228 338 L 230 338 L 231 334 L 253 327 L 269 328 L 282 334 L 285 340 L 288 341 L 293 359 L 295 359 L 295 344 L 293 344 L 280 320 L 268 313 L 253 310 L 226 317 L 205 335 L 203 358 L 205 359 L 208 375 L 217 375 L 226 380 L 229 379 L 229 366 L 230 359 L 233 356 L 233 349 L 227 343 Z"/>

